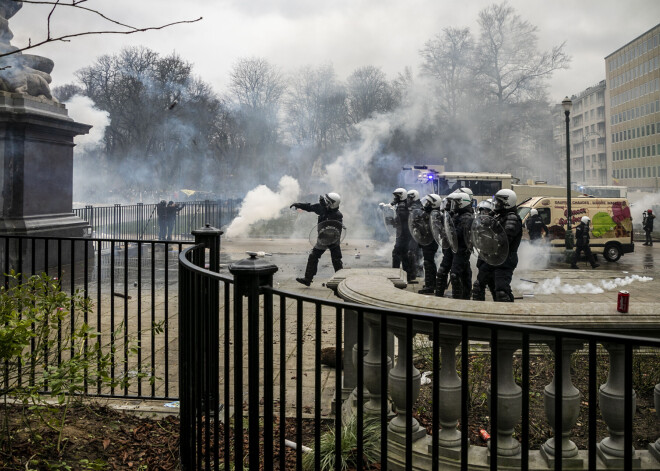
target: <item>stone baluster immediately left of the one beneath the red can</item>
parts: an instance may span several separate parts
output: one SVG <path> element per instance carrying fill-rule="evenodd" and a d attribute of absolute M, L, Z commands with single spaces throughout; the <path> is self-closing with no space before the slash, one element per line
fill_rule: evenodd
<path fill-rule="evenodd" d="M 550 345 L 552 351 L 556 355 L 559 355 L 557 352 L 556 345 L 552 343 Z M 582 467 L 584 460 L 577 458 L 578 448 L 570 439 L 571 429 L 577 422 L 577 419 L 580 415 L 580 391 L 573 385 L 571 381 L 571 355 L 576 350 L 582 348 L 582 343 L 577 342 L 568 342 L 564 341 L 562 343 L 561 351 L 561 360 L 562 360 L 562 385 L 561 385 L 561 395 L 562 395 L 562 430 L 561 430 L 561 454 L 562 454 L 562 463 L 567 467 Z M 545 387 L 545 414 L 548 419 L 550 426 L 554 430 L 555 426 L 555 394 L 557 391 L 556 378 L 552 378 L 552 382 Z M 555 440 L 557 437 L 557 432 L 555 431 L 555 436 L 549 438 L 541 446 L 541 455 L 548 462 L 548 466 L 551 468 L 554 467 L 554 462 L 557 457 Z"/>

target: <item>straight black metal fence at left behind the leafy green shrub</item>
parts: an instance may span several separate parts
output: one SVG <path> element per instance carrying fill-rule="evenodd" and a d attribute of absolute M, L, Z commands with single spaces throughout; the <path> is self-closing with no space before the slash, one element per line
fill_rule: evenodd
<path fill-rule="evenodd" d="M 177 256 L 182 248 L 181 242 L 3 236 L 0 266 L 5 287 L 12 282 L 10 271 L 24 278 L 46 273 L 62 291 L 90 301 L 84 312 L 72 310 L 64 320 L 52 358 L 67 358 L 62 338 L 85 323 L 100 334 L 85 348 L 97 342 L 116 351 L 110 379 L 132 379 L 118 389 L 90 377 L 85 394 L 173 400 L 179 395 Z M 137 350 L 129 351 L 129 345 Z M 23 374 L 28 378 L 34 371 L 26 368 Z"/>

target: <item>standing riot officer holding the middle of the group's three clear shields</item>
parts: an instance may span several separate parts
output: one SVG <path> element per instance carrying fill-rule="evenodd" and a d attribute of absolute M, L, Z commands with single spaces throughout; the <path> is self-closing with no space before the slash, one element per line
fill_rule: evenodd
<path fill-rule="evenodd" d="M 458 249 L 454 254 L 449 277 L 451 279 L 452 297 L 454 299 L 470 299 L 472 289 L 472 268 L 470 267 L 471 250 L 467 244 L 474 212 L 472 210 L 472 198 L 467 193 L 457 191 L 447 196 L 451 202 L 451 210 L 454 213 L 454 227 Z"/>

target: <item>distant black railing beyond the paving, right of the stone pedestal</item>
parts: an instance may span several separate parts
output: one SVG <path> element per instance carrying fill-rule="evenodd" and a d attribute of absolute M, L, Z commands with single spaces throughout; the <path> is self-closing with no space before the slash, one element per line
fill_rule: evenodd
<path fill-rule="evenodd" d="M 187 201 L 177 202 L 182 206 L 177 213 L 172 240 L 191 241 L 193 230 L 210 224 L 222 227 L 238 214 L 240 200 Z M 73 210 L 74 214 L 87 221 L 96 237 L 104 239 L 159 240 L 159 220 L 156 204 L 137 203 L 132 205 L 85 206 Z"/>

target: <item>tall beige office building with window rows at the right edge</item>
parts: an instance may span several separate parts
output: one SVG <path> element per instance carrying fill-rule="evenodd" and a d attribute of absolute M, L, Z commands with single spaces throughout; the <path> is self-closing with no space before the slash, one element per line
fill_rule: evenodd
<path fill-rule="evenodd" d="M 610 177 L 630 189 L 660 187 L 660 24 L 605 57 Z"/>

